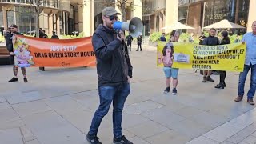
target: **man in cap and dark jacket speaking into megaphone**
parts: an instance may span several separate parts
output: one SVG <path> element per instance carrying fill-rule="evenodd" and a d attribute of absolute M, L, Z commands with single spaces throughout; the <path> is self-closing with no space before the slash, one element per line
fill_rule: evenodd
<path fill-rule="evenodd" d="M 100 105 L 94 114 L 86 139 L 90 144 L 101 144 L 97 137 L 102 118 L 113 102 L 113 131 L 115 144 L 133 144 L 122 135 L 122 109 L 130 94 L 132 66 L 129 56 L 122 50 L 124 32 L 114 29 L 118 13 L 113 7 L 102 10 L 103 25 L 94 31 L 92 44 L 97 59 L 98 94 Z M 118 34 L 117 34 L 118 30 Z"/>

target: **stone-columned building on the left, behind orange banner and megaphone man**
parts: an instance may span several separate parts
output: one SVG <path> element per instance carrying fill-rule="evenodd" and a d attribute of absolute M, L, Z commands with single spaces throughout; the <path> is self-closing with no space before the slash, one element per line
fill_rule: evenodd
<path fill-rule="evenodd" d="M 15 23 L 23 34 L 32 34 L 35 29 L 35 1 L 36 0 L 0 0 L 1 30 Z M 95 28 L 102 23 L 102 10 L 106 6 L 114 6 L 119 12 L 117 0 L 39 0 L 40 17 L 39 27 L 51 34 L 72 34 L 84 32 L 90 36 Z M 30 4 L 33 2 L 33 4 Z M 142 18 L 141 0 L 129 0 L 126 10 L 126 19 Z M 121 19 L 121 18 L 120 18 Z"/>

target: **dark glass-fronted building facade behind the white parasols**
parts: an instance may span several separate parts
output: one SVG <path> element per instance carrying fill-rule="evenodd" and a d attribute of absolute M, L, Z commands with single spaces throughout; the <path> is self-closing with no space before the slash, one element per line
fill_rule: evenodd
<path fill-rule="evenodd" d="M 248 27 L 250 5 L 254 0 L 197 0 L 180 1 L 178 19 L 193 26 L 194 33 L 200 33 L 202 27 L 222 19 Z M 250 27 L 250 26 L 249 26 Z M 246 32 L 246 29 L 241 30 Z"/>

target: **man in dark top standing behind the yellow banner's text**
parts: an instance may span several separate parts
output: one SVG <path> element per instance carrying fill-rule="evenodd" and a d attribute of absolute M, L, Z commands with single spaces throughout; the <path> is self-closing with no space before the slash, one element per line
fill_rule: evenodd
<path fill-rule="evenodd" d="M 216 29 L 211 28 L 209 31 L 209 37 L 205 38 L 202 42 L 202 45 L 206 46 L 216 46 L 219 45 L 219 40 L 215 37 Z M 203 70 L 203 79 L 202 82 L 214 82 L 212 78 L 210 78 L 211 70 Z"/>

